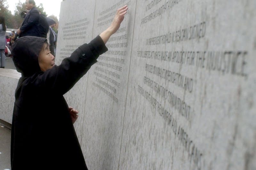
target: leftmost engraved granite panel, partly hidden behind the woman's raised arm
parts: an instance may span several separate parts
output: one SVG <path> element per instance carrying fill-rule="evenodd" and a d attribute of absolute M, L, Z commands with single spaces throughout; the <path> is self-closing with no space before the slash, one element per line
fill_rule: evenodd
<path fill-rule="evenodd" d="M 76 48 L 92 40 L 94 7 L 95 0 L 89 0 L 86 3 L 71 0 L 61 2 L 56 64 L 59 65 Z M 64 95 L 68 105 L 79 111 L 79 117 L 74 127 L 80 143 L 82 140 L 87 79 L 88 73 Z"/>

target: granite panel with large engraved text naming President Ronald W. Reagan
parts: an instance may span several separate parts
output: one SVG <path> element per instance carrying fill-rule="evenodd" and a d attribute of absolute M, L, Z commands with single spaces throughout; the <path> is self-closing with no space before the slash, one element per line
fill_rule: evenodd
<path fill-rule="evenodd" d="M 256 169 L 255 6 L 137 1 L 119 169 Z"/>

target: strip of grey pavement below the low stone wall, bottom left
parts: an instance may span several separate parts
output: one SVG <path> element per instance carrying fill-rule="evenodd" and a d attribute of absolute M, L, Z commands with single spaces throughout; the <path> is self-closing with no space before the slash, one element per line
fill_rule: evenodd
<path fill-rule="evenodd" d="M 0 170 L 11 169 L 11 130 L 0 123 Z"/>

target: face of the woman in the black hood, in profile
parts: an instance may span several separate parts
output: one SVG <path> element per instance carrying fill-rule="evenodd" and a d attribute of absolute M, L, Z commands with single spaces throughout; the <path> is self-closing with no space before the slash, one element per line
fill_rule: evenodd
<path fill-rule="evenodd" d="M 54 56 L 50 53 L 49 45 L 44 43 L 43 48 L 38 57 L 38 63 L 43 72 L 48 69 L 51 69 L 54 65 Z"/>

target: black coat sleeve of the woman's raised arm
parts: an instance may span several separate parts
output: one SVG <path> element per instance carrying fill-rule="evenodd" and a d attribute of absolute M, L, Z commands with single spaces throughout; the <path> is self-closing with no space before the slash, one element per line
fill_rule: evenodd
<path fill-rule="evenodd" d="M 60 66 L 37 75 L 32 81 L 33 87 L 51 93 L 64 95 L 97 62 L 99 55 L 108 48 L 98 35 L 89 44 L 83 44 L 70 57 L 65 58 Z"/>

